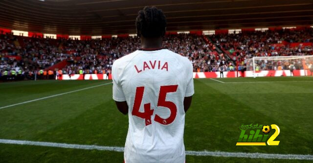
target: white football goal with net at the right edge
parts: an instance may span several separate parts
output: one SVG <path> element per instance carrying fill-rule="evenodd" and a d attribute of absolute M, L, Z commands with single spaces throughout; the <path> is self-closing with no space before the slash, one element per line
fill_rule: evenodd
<path fill-rule="evenodd" d="M 246 60 L 246 70 L 309 70 L 313 68 L 313 55 L 253 57 Z M 304 71 L 305 72 L 305 71 Z"/>

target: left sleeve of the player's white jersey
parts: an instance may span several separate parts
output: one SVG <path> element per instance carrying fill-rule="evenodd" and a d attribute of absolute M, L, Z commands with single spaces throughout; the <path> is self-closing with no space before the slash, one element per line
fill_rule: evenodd
<path fill-rule="evenodd" d="M 122 86 L 119 83 L 120 74 L 122 67 L 119 66 L 118 62 L 114 62 L 112 66 L 112 83 L 113 83 L 113 100 L 114 101 L 126 101 L 125 95 L 122 90 Z"/>

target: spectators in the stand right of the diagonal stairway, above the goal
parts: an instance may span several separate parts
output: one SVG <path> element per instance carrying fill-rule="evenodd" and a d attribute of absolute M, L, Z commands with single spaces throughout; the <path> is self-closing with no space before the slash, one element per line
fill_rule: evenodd
<path fill-rule="evenodd" d="M 216 45 L 234 61 L 246 65 L 246 59 L 267 56 L 313 55 L 313 47 L 299 45 L 291 47 L 283 43 L 313 43 L 313 29 L 302 30 L 267 30 L 243 33 L 213 35 Z M 274 70 L 273 66 L 273 70 Z M 278 67 L 278 65 L 276 65 Z"/>

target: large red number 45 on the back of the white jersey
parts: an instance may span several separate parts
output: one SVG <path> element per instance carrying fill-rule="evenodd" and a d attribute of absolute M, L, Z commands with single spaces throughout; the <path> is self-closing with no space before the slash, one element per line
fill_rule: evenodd
<path fill-rule="evenodd" d="M 178 85 L 161 86 L 160 87 L 160 93 L 158 94 L 157 106 L 162 106 L 162 107 L 168 108 L 170 110 L 171 114 L 166 119 L 163 119 L 160 116 L 156 115 L 155 119 L 154 119 L 156 122 L 158 122 L 160 124 L 168 125 L 168 124 L 171 124 L 174 121 L 174 119 L 176 118 L 176 115 L 177 115 L 176 105 L 171 101 L 165 101 L 165 98 L 166 98 L 166 93 L 176 92 L 177 88 L 178 88 Z M 148 126 L 152 123 L 151 122 L 151 116 L 153 115 L 154 110 L 151 109 L 150 103 L 146 103 L 143 105 L 144 112 L 139 112 L 144 89 L 145 89 L 145 87 L 137 87 L 136 88 L 136 94 L 135 94 L 135 100 L 134 100 L 134 107 L 133 107 L 132 115 L 145 119 L 146 126 Z"/>

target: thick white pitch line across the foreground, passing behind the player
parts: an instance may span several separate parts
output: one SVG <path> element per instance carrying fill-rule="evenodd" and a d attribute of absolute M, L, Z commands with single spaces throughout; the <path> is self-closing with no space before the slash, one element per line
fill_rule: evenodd
<path fill-rule="evenodd" d="M 6 140 L 6 139 L 0 139 L 0 143 L 124 152 L 124 147 L 114 147 L 114 146 L 80 145 L 80 144 L 67 144 L 67 143 L 55 143 L 55 142 L 43 142 L 43 141 Z M 218 151 L 214 151 L 214 152 L 213 151 L 186 151 L 186 155 L 214 156 L 214 157 L 238 157 L 238 158 L 251 158 L 251 159 L 313 160 L 313 155 L 218 152 Z"/>

